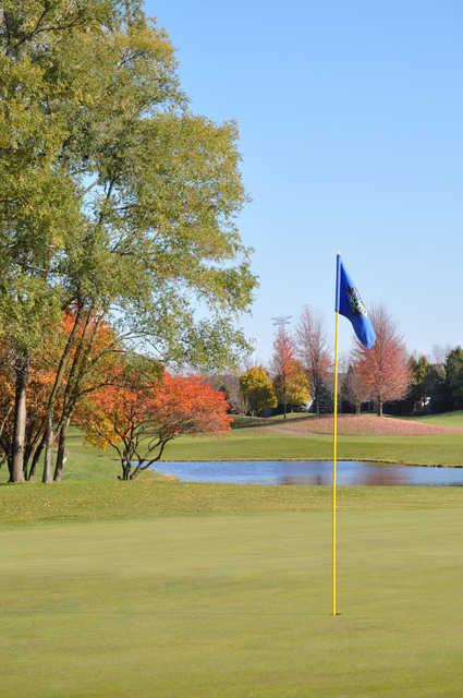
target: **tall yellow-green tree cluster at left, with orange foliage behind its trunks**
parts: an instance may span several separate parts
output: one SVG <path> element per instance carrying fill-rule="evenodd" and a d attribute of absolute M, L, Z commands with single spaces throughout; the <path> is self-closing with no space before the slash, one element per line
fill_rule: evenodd
<path fill-rule="evenodd" d="M 3 3 L 0 84 L 0 446 L 10 481 L 50 482 L 80 406 L 134 362 L 247 349 L 245 193 L 234 123 L 191 112 L 138 0 Z"/>

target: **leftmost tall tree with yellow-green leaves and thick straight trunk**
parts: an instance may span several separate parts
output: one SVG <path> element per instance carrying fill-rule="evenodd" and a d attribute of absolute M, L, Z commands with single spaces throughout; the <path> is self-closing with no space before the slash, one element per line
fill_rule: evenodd
<path fill-rule="evenodd" d="M 98 0 L 7 0 L 2 7 L 0 326 L 16 357 L 14 482 L 24 479 L 31 357 L 61 310 L 63 254 L 82 232 L 81 195 L 63 144 L 72 141 L 88 71 L 76 60 L 82 50 L 69 48 L 96 44 L 117 15 L 115 3 Z"/>

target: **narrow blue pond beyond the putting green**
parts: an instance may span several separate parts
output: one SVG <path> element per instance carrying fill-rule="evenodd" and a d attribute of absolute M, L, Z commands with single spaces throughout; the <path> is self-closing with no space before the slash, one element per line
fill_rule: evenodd
<path fill-rule="evenodd" d="M 183 482 L 234 484 L 331 484 L 328 460 L 162 461 L 155 470 Z M 338 462 L 338 484 L 463 485 L 463 467 L 381 465 L 358 460 Z"/>

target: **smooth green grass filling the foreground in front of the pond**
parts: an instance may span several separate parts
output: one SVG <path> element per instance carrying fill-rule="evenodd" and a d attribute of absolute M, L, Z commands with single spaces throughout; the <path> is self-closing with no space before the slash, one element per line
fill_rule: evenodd
<path fill-rule="evenodd" d="M 341 490 L 332 618 L 328 489 L 115 488 L 138 519 L 3 525 L 0 696 L 462 695 L 461 490 Z"/>

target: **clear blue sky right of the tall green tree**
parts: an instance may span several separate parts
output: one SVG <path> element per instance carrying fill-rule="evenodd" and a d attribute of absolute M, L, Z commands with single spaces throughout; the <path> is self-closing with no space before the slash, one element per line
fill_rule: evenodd
<path fill-rule="evenodd" d="M 463 344 L 463 2 L 147 0 L 192 108 L 241 131 L 240 218 L 260 277 L 243 325 L 309 303 L 332 334 L 334 255 L 410 350 Z M 343 322 L 342 347 L 351 333 Z"/>

